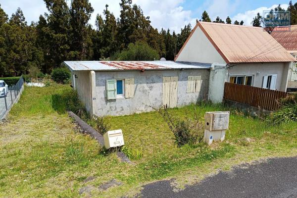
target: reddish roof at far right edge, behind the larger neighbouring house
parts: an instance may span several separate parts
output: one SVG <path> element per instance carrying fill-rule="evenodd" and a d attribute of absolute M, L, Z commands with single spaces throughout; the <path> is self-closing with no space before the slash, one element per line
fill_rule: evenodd
<path fill-rule="evenodd" d="M 297 52 L 297 25 L 291 25 L 290 29 L 285 32 L 274 28 L 270 35 L 290 53 L 294 53 Z"/>

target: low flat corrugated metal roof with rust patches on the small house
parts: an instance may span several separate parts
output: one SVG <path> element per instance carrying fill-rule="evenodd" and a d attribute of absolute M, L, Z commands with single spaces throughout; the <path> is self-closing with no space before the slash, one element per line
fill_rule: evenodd
<path fill-rule="evenodd" d="M 208 69 L 211 64 L 174 61 L 64 61 L 71 71 Z"/>

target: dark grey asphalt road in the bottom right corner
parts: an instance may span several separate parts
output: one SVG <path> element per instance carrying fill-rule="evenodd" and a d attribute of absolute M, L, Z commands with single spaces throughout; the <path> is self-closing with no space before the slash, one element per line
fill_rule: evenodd
<path fill-rule="evenodd" d="M 144 186 L 142 198 L 297 198 L 297 157 L 273 158 L 220 172 L 173 192 L 170 181 Z"/>

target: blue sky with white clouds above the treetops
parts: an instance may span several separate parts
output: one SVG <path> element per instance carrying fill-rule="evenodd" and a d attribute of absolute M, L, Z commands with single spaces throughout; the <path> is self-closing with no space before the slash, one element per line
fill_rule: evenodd
<path fill-rule="evenodd" d="M 67 0 L 69 3 L 71 0 Z M 95 26 L 96 15 L 102 14 L 105 4 L 113 12 L 115 17 L 120 14 L 120 0 L 89 0 L 94 8 L 89 23 Z M 293 0 L 295 3 L 296 0 Z M 224 21 L 230 16 L 232 23 L 235 20 L 244 21 L 245 25 L 250 25 L 252 18 L 263 10 L 270 10 L 278 4 L 285 9 L 289 0 L 133 0 L 141 6 L 146 16 L 149 16 L 151 25 L 160 30 L 161 28 L 174 30 L 179 33 L 186 24 L 195 26 L 196 19 L 201 18 L 204 10 L 207 11 L 211 20 L 219 16 Z M 28 23 L 38 21 L 39 15 L 47 12 L 43 0 L 0 0 L 1 7 L 6 14 L 11 16 L 20 7 L 23 10 Z"/>

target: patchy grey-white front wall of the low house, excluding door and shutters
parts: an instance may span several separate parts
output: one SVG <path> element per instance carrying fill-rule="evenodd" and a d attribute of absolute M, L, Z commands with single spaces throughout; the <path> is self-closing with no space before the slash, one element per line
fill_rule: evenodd
<path fill-rule="evenodd" d="M 187 93 L 188 76 L 201 75 L 201 91 Z M 93 93 L 93 113 L 103 115 L 127 115 L 153 110 L 162 105 L 163 77 L 178 76 L 177 105 L 183 106 L 198 99 L 207 99 L 209 69 L 162 70 L 162 71 L 106 71 L 96 72 Z M 134 78 L 134 97 L 129 99 L 106 99 L 106 80 Z M 95 98 L 95 100 L 94 100 Z"/>

